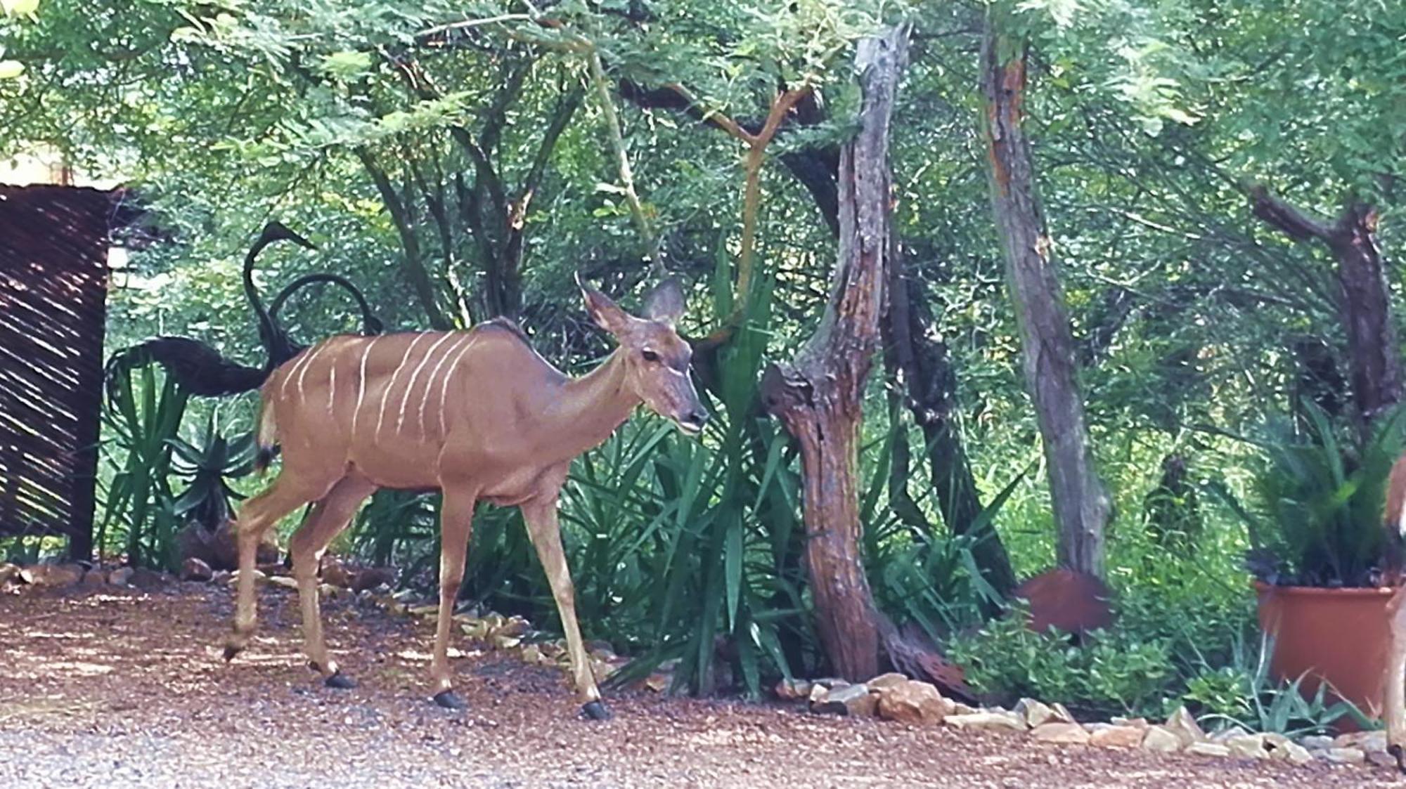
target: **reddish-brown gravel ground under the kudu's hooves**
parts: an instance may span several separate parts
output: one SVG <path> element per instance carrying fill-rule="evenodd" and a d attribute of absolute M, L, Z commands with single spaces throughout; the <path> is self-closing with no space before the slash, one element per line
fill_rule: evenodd
<path fill-rule="evenodd" d="M 297 598 L 264 590 L 263 628 L 226 665 L 231 592 L 0 594 L 0 786 L 1396 786 L 1369 767 L 1091 748 L 1008 734 L 811 716 L 799 708 L 610 695 L 576 717 L 558 671 L 470 643 L 467 712 L 425 698 L 427 625 L 326 604 L 361 685 L 322 688 Z"/>

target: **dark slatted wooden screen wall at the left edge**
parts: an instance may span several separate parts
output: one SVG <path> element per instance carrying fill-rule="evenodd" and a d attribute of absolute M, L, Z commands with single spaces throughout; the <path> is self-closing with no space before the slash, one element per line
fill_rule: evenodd
<path fill-rule="evenodd" d="M 117 192 L 0 187 L 0 536 L 91 553 Z"/>

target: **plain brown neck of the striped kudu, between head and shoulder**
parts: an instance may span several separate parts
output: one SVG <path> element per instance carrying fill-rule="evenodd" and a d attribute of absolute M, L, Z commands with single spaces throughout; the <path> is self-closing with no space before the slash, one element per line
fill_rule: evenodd
<path fill-rule="evenodd" d="M 543 421 L 551 430 L 553 445 L 575 458 L 610 438 L 638 404 L 626 386 L 624 358 L 616 350 L 596 369 L 567 380 Z"/>

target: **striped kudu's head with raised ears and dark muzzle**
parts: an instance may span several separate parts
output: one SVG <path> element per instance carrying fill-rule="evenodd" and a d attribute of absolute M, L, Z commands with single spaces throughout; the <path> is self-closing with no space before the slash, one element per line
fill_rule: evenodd
<path fill-rule="evenodd" d="M 693 350 L 673 329 L 683 316 L 679 281 L 668 277 L 650 291 L 644 302 L 647 317 L 624 312 L 605 293 L 581 282 L 579 277 L 576 284 L 592 320 L 620 343 L 627 386 L 651 411 L 673 420 L 683 432 L 700 432 L 707 423 L 707 410 L 689 376 Z"/>

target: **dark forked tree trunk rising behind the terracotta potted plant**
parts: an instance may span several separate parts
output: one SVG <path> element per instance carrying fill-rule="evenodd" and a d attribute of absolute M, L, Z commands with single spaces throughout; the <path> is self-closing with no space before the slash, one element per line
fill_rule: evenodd
<path fill-rule="evenodd" d="M 1337 222 L 1313 219 L 1271 195 L 1250 190 L 1254 215 L 1295 241 L 1323 241 L 1337 258 L 1339 312 L 1347 330 L 1353 404 L 1358 425 L 1371 421 L 1402 397 L 1396 327 L 1381 250 L 1376 248 L 1376 211 L 1348 202 Z"/>

